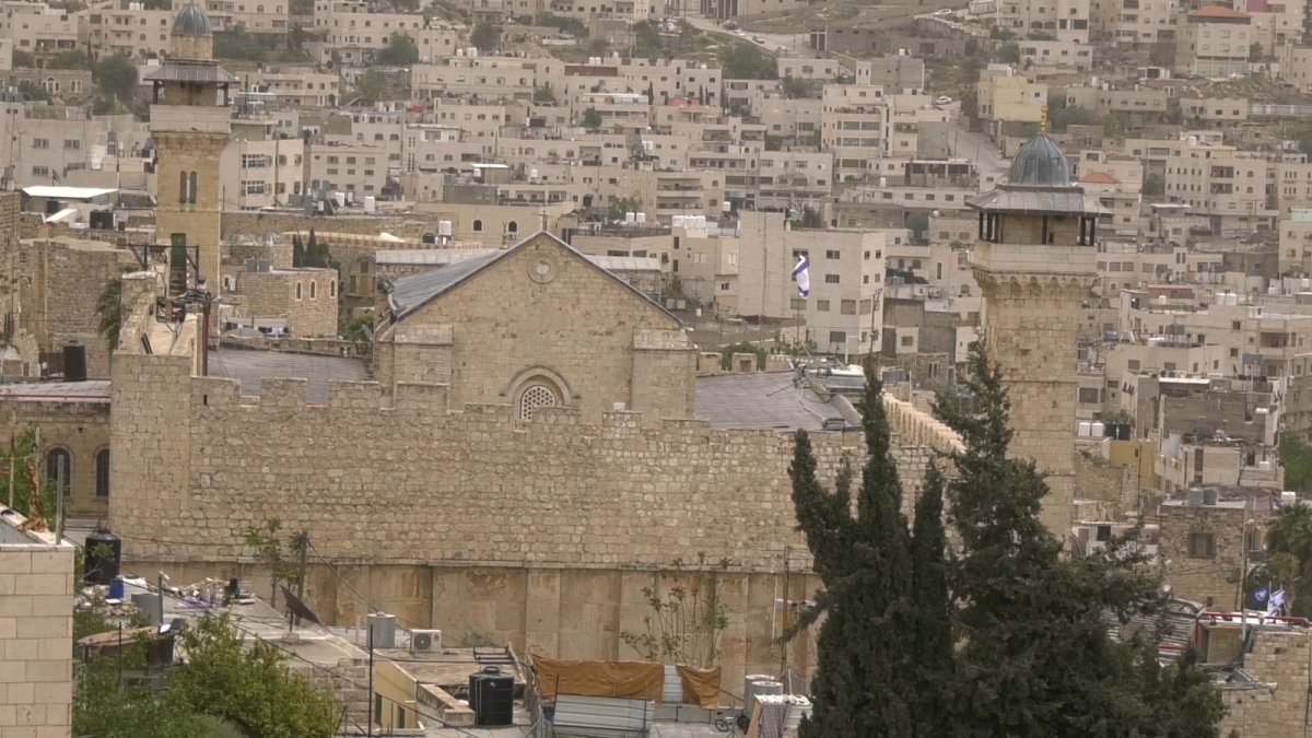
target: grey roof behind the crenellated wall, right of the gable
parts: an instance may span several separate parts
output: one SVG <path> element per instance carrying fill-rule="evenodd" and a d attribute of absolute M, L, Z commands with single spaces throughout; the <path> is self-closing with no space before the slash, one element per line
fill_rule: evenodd
<path fill-rule="evenodd" d="M 836 394 L 825 402 L 794 385 L 792 372 L 699 377 L 695 414 L 715 428 L 821 431 L 825 420 L 861 427 L 861 414 L 848 398 Z"/>

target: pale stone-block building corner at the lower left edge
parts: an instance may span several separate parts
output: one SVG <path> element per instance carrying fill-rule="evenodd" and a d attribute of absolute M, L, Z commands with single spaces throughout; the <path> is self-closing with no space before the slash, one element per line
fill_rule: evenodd
<path fill-rule="evenodd" d="M 0 735 L 68 738 L 73 546 L 0 516 Z"/>

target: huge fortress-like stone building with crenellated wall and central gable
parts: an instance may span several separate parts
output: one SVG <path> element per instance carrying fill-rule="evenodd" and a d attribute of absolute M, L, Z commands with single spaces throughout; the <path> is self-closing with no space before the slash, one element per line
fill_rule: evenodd
<path fill-rule="evenodd" d="M 643 628 L 643 588 L 705 554 L 724 562 L 726 683 L 778 662 L 785 573 L 790 599 L 816 586 L 799 574 L 790 431 L 813 432 L 832 475 L 862 453 L 859 432 L 825 429 L 851 427 L 845 399 L 799 402 L 787 373 L 695 380 L 673 316 L 544 234 L 383 297 L 377 382 L 333 381 L 325 366 L 349 360 L 300 356 L 255 397 L 165 351 L 185 343 L 147 353 L 139 295 L 110 414 L 112 448 L 134 449 L 110 479 L 130 566 L 258 576 L 241 532 L 278 517 L 314 542 L 307 599 L 329 622 L 386 609 L 449 637 L 632 658 L 619 633 Z M 909 502 L 933 450 L 959 441 L 886 406 Z"/>

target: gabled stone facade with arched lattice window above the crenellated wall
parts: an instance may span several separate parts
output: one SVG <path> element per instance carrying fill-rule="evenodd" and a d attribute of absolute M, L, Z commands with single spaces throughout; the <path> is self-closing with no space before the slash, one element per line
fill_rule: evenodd
<path fill-rule="evenodd" d="M 677 318 L 547 234 L 495 256 L 401 319 L 380 318 L 384 391 L 437 382 L 453 407 L 522 408 L 544 387 L 543 402 L 589 422 L 617 403 L 648 419 L 693 416 L 697 351 Z"/>

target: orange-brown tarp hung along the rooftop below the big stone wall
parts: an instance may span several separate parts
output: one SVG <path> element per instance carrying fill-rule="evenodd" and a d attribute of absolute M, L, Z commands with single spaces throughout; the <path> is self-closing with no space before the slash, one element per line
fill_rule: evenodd
<path fill-rule="evenodd" d="M 661 701 L 665 666 L 644 661 L 563 661 L 534 655 L 538 692 L 586 697 L 626 697 Z M 720 667 L 678 667 L 684 683 L 684 701 L 714 709 L 719 706 Z"/>

